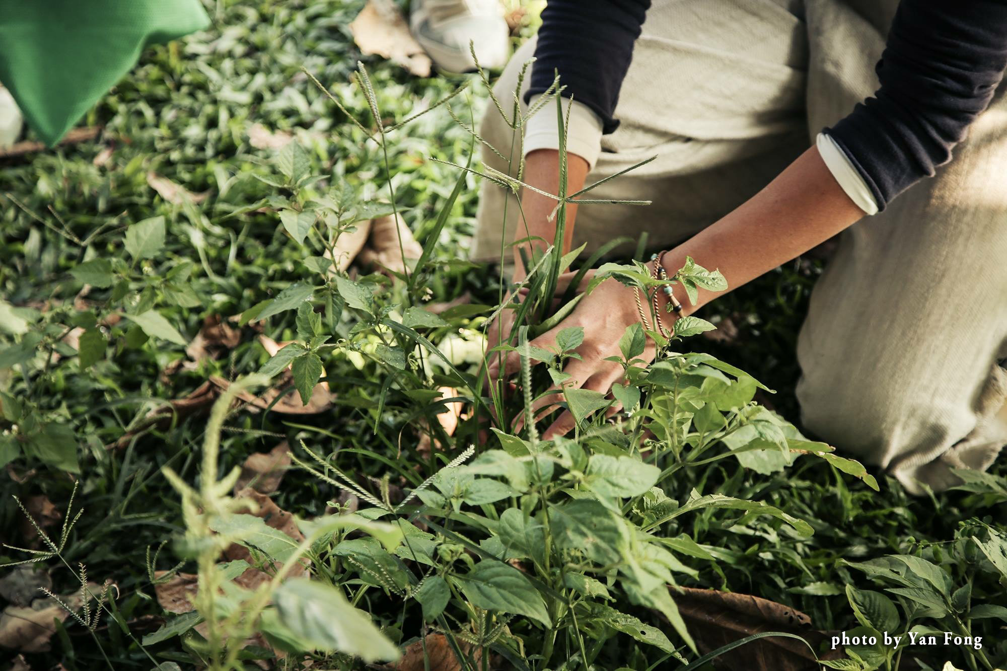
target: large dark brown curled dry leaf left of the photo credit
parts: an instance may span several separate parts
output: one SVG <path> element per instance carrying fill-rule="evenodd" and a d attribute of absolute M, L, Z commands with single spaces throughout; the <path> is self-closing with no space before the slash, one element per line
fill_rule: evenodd
<path fill-rule="evenodd" d="M 811 618 L 801 611 L 759 596 L 691 587 L 672 587 L 671 590 L 679 613 L 703 653 L 760 632 L 795 634 L 807 640 L 815 650 L 829 636 L 813 629 Z M 819 668 L 808 646 L 782 637 L 766 637 L 735 648 L 718 657 L 714 666 L 750 671 L 812 671 Z"/>

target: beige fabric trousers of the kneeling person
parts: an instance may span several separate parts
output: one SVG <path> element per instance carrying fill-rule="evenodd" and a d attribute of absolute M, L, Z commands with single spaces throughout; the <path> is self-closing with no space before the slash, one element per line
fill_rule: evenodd
<path fill-rule="evenodd" d="M 574 246 L 646 231 L 670 247 L 750 197 L 876 89 L 896 5 L 656 0 L 622 86 L 621 125 L 588 176 L 657 155 L 591 194 L 653 205 L 581 206 Z M 501 100 L 513 100 L 534 49 L 532 40 L 514 56 L 495 87 Z M 480 133 L 509 153 L 512 130 L 491 105 Z M 488 150 L 483 160 L 508 170 Z M 498 259 L 501 240 L 514 240 L 518 209 L 510 203 L 505 226 L 508 197 L 483 181 L 473 258 Z M 946 488 L 952 468 L 993 462 L 1007 443 L 1003 87 L 937 177 L 843 233 L 797 354 L 804 426 L 909 491 Z"/>

